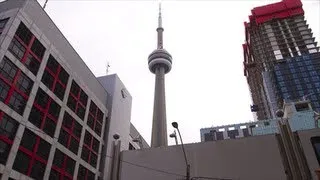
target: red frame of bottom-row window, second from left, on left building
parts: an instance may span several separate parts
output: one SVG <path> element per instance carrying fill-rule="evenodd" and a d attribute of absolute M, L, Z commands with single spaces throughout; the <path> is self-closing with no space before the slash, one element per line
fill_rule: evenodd
<path fill-rule="evenodd" d="M 48 159 L 44 159 L 43 157 L 41 157 L 37 153 L 39 153 L 38 150 L 39 150 L 39 147 L 40 147 L 39 146 L 40 145 L 40 141 L 42 140 L 42 141 L 44 141 L 46 143 L 48 143 L 48 142 L 43 140 L 42 138 L 40 138 L 39 136 L 37 136 L 35 133 L 33 133 L 31 130 L 29 130 L 27 128 L 24 130 L 23 136 L 25 136 L 26 131 L 28 131 L 29 133 L 31 132 L 31 134 L 35 136 L 35 144 L 32 146 L 32 150 L 29 150 L 26 147 L 23 147 L 23 145 L 22 145 L 23 142 L 22 141 L 23 141 L 24 138 L 22 137 L 21 142 L 20 142 L 20 146 L 18 148 L 18 152 L 17 152 L 16 158 L 14 160 L 13 169 L 15 169 L 14 168 L 15 164 L 19 164 L 20 163 L 20 162 L 17 162 L 17 156 L 18 156 L 18 153 L 21 152 L 25 156 L 28 156 L 29 159 L 30 159 L 28 167 L 27 167 L 27 172 L 26 173 L 21 172 L 21 173 L 23 173 L 23 174 L 25 174 L 25 175 L 27 175 L 29 177 L 32 177 L 31 176 L 32 168 L 37 162 L 40 162 L 43 165 L 44 171 L 46 169 L 46 165 L 48 163 Z M 48 152 L 47 158 L 49 158 L 50 149 L 51 149 L 51 144 L 50 144 L 50 148 L 49 148 L 49 152 Z M 44 175 L 44 173 L 45 172 L 43 172 L 43 175 Z"/>

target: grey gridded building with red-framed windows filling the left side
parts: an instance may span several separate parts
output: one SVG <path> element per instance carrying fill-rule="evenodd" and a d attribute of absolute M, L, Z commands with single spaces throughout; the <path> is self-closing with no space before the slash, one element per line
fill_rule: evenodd
<path fill-rule="evenodd" d="M 100 82 L 36 0 L 1 2 L 0 34 L 0 179 L 107 179 L 133 126 L 119 78 Z"/>

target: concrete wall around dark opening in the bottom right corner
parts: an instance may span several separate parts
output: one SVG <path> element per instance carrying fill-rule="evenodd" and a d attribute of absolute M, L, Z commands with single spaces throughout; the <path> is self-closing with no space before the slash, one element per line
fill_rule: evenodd
<path fill-rule="evenodd" d="M 320 129 L 317 128 L 312 130 L 298 131 L 298 135 L 308 162 L 310 172 L 312 174 L 312 178 L 316 180 L 317 177 L 314 171 L 320 168 L 320 165 L 317 161 L 317 157 L 313 150 L 310 138 L 314 136 L 320 136 Z"/>

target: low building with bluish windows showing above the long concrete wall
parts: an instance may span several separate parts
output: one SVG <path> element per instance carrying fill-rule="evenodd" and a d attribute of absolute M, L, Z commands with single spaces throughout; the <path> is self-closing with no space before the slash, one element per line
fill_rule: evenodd
<path fill-rule="evenodd" d="M 310 101 L 285 103 L 283 113 L 284 116 L 282 119 L 274 118 L 248 123 L 202 128 L 200 129 L 201 142 L 279 133 L 279 121 L 282 120 L 288 121 L 290 129 L 293 132 L 319 128 L 319 120 L 317 119 L 317 114 L 311 107 Z"/>

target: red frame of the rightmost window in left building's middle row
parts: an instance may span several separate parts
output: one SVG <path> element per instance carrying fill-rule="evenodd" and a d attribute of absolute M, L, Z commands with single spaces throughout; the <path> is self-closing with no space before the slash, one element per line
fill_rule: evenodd
<path fill-rule="evenodd" d="M 86 142 L 87 138 L 88 138 L 89 142 Z M 95 142 L 97 142 L 98 144 L 95 144 Z M 95 145 L 97 145 L 98 149 L 95 149 Z M 97 163 L 98 163 L 99 146 L 100 146 L 100 142 L 92 134 L 90 134 L 88 131 L 86 131 L 86 133 L 84 135 L 84 140 L 83 140 L 81 159 L 83 159 L 84 161 L 89 163 L 94 168 L 97 167 Z M 86 149 L 88 150 L 88 157 L 87 158 L 84 157 L 85 156 L 84 152 Z M 93 160 L 92 156 L 96 157 L 95 164 L 93 164 L 93 162 L 91 162 L 91 160 Z"/>

